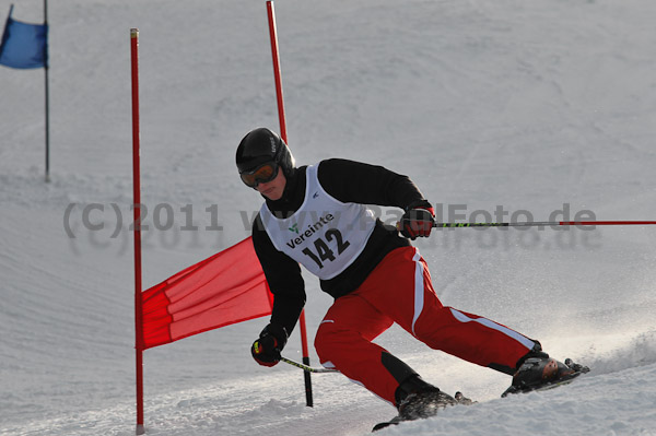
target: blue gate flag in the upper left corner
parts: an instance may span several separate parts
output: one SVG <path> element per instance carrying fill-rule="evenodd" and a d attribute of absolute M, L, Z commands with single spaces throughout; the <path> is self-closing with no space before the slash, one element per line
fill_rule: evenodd
<path fill-rule="evenodd" d="M 0 43 L 0 64 L 11 68 L 42 68 L 48 63 L 48 26 L 28 24 L 11 17 L 13 4 Z"/>

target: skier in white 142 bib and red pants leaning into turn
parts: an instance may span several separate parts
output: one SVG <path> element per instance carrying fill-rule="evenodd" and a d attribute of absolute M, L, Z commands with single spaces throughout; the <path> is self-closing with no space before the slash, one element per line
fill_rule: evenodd
<path fill-rule="evenodd" d="M 265 198 L 253 222 L 253 244 L 274 302 L 269 325 L 251 346 L 258 364 L 280 361 L 305 305 L 301 263 L 335 298 L 315 338 L 321 365 L 396 406 L 400 421 L 458 401 L 372 342 L 394 322 L 431 349 L 513 376 L 511 389 L 573 374 L 538 341 L 442 305 L 426 262 L 408 240 L 431 234 L 433 208 L 407 176 L 338 158 L 296 167 L 284 141 L 266 128 L 246 134 L 236 164 L 242 181 Z M 403 209 L 400 231 L 375 219 L 365 204 Z"/>

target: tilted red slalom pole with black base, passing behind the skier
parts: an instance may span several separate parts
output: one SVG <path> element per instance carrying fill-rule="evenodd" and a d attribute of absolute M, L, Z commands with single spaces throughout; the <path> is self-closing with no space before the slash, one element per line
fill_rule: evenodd
<path fill-rule="evenodd" d="M 280 121 L 280 137 L 289 144 L 286 138 L 286 121 L 284 117 L 284 102 L 282 98 L 282 79 L 280 73 L 280 56 L 278 52 L 278 32 L 276 28 L 276 11 L 273 1 L 267 1 L 267 15 L 269 16 L 269 37 L 271 39 L 271 58 L 273 60 L 273 79 L 276 81 L 276 96 L 278 99 L 278 118 Z M 301 329 L 301 346 L 303 352 L 303 363 L 309 365 L 309 351 L 307 347 L 307 330 L 305 328 L 305 310 L 301 311 L 298 318 Z M 308 408 L 314 405 L 312 396 L 312 379 L 309 372 L 304 372 L 305 377 L 305 402 Z"/>

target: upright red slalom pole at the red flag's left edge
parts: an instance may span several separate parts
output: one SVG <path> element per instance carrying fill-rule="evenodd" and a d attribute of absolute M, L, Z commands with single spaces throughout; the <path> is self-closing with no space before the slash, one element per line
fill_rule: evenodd
<path fill-rule="evenodd" d="M 141 309 L 141 182 L 139 129 L 139 30 L 130 30 L 132 66 L 132 187 L 134 212 L 134 349 L 137 352 L 137 434 L 143 435 L 143 316 Z"/>

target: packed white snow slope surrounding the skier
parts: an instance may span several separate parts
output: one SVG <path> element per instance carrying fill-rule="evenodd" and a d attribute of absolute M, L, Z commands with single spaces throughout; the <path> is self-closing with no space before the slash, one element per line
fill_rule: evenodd
<path fill-rule="evenodd" d="M 13 16 L 38 23 L 42 8 L 22 0 Z M 445 221 L 656 217 L 656 2 L 276 8 L 298 163 L 340 156 L 407 174 Z M 129 31 L 140 30 L 145 288 L 249 234 L 261 199 L 234 151 L 255 127 L 279 130 L 266 5 L 59 0 L 49 23 L 49 184 L 43 70 L 0 68 L 0 434 L 130 435 Z M 507 376 L 393 328 L 380 344 L 479 403 L 380 434 L 656 435 L 655 245 L 656 226 L 460 228 L 420 241 L 446 305 L 593 370 L 501 399 Z M 330 298 L 306 279 L 312 341 Z M 298 369 L 249 355 L 266 322 L 148 350 L 148 434 L 364 435 L 394 415 L 333 374 L 313 377 L 306 408 Z M 284 354 L 298 350 L 295 331 Z"/>

